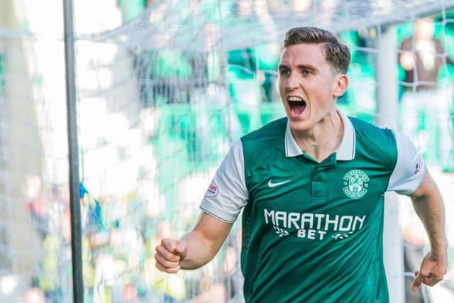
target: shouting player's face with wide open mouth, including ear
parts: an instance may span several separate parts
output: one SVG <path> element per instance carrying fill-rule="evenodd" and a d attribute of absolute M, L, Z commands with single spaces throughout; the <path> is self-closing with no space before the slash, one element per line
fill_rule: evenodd
<path fill-rule="evenodd" d="M 326 62 L 323 45 L 302 43 L 284 48 L 279 62 L 279 95 L 292 130 L 310 131 L 335 112 L 336 97 L 345 91 L 346 81 L 345 75 Z"/>

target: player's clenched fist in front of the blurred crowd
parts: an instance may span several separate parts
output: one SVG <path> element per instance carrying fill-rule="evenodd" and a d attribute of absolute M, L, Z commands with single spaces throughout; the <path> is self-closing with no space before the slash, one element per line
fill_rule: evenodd
<path fill-rule="evenodd" d="M 177 273 L 180 262 L 186 258 L 187 243 L 174 239 L 162 239 L 161 244 L 156 246 L 156 268 L 162 272 Z"/>

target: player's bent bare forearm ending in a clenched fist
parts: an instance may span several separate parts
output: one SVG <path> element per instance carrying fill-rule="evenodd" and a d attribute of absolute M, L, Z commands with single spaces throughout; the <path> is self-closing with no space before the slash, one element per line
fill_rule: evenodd
<path fill-rule="evenodd" d="M 194 229 L 180 240 L 162 239 L 156 247 L 156 268 L 169 273 L 200 268 L 214 258 L 232 225 L 202 211 Z"/>

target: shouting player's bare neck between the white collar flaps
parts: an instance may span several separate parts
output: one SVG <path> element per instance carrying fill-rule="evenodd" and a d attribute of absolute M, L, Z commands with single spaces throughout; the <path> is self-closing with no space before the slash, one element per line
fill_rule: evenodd
<path fill-rule="evenodd" d="M 318 162 L 329 157 L 341 145 L 343 123 L 341 115 L 333 109 L 309 131 L 294 131 L 292 135 L 299 148 Z"/>

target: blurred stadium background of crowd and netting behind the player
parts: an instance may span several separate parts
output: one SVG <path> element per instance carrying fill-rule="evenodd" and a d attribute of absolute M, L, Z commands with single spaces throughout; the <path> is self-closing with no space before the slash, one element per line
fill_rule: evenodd
<path fill-rule="evenodd" d="M 402 131 L 405 119 L 415 119 L 414 140 L 445 198 L 451 245 L 445 282 L 421 297 L 454 302 L 453 146 L 447 158 L 441 150 L 441 128 L 453 137 L 450 7 L 448 1 L 74 1 L 85 301 L 241 302 L 238 226 L 201 270 L 163 275 L 153 251 L 159 238 L 191 228 L 231 143 L 284 115 L 274 88 L 282 33 L 310 24 L 336 31 L 352 50 L 341 109 L 383 121 L 377 95 L 393 86 L 396 127 Z M 421 83 L 404 81 L 399 45 L 426 16 L 444 48 L 436 85 L 446 92 L 446 121 L 429 107 L 409 117 L 402 102 Z M 385 32 L 394 37 L 394 49 L 386 50 L 395 57 L 387 71 L 392 84 L 377 76 Z M 2 2 L 0 302 L 72 302 L 62 34 L 61 1 Z M 411 260 L 427 241 L 401 197 L 399 219 L 403 277 L 416 269 Z M 411 296 L 405 302 L 418 302 Z"/>

